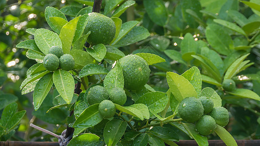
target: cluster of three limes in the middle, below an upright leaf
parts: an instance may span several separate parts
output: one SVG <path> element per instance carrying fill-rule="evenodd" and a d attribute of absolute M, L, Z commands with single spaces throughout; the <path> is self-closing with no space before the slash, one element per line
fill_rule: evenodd
<path fill-rule="evenodd" d="M 89 105 L 100 103 L 99 112 L 105 119 L 114 116 L 116 113 L 115 104 L 123 105 L 126 102 L 125 91 L 118 87 L 115 87 L 108 92 L 104 87 L 97 85 L 90 88 L 84 96 Z"/>

